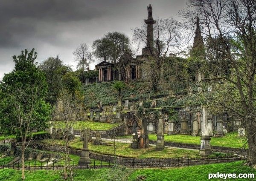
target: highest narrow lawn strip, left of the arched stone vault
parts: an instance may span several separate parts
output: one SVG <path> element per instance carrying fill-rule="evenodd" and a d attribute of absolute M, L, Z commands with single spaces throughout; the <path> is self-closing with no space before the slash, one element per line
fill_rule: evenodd
<path fill-rule="evenodd" d="M 64 126 L 64 123 L 62 121 L 53 121 L 53 126 Z M 118 124 L 115 124 L 115 126 L 118 126 Z M 92 121 L 77 121 L 74 125 L 74 129 L 83 129 L 87 127 L 89 127 L 92 130 L 108 130 L 113 128 L 113 124 Z"/>

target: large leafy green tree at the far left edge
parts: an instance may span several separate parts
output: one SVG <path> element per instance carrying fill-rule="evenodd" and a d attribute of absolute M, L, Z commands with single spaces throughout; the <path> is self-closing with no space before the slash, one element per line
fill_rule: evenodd
<path fill-rule="evenodd" d="M 0 124 L 6 134 L 21 138 L 22 179 L 25 179 L 24 154 L 34 130 L 46 127 L 50 106 L 45 103 L 47 82 L 44 73 L 36 67 L 37 53 L 21 51 L 13 56 L 15 69 L 6 74 L 0 84 Z M 30 136 L 30 139 L 28 137 Z"/>

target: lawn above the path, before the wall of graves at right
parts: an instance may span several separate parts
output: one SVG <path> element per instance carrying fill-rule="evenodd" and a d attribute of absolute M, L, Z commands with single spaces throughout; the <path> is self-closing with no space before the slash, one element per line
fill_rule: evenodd
<path fill-rule="evenodd" d="M 119 138 L 132 138 L 131 135 L 122 136 Z M 157 135 L 150 134 L 148 135 L 150 140 L 157 140 Z M 200 136 L 190 136 L 190 135 L 165 135 L 165 141 L 176 142 L 176 143 L 187 143 L 187 144 L 200 144 Z M 241 148 L 244 143 L 246 143 L 246 138 L 238 137 L 237 132 L 229 132 L 224 137 L 217 138 L 212 137 L 211 145 L 212 146 L 221 146 L 221 147 L 233 147 Z"/>

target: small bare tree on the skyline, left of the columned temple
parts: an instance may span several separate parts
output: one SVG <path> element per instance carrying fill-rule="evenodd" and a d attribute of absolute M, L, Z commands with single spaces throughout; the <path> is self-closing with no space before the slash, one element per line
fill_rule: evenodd
<path fill-rule="evenodd" d="M 73 52 L 75 60 L 78 62 L 77 68 L 82 70 L 82 82 L 84 82 L 84 71 L 89 70 L 89 66 L 94 62 L 92 53 L 88 50 L 88 46 L 85 43 L 81 45 Z"/>

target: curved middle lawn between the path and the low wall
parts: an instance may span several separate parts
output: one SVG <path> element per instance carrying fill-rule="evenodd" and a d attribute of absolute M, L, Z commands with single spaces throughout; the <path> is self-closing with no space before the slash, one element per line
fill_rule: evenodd
<path fill-rule="evenodd" d="M 43 143 L 50 145 L 64 145 L 62 140 L 43 140 Z M 82 148 L 82 141 L 76 140 L 71 143 L 71 147 L 74 149 Z M 98 152 L 105 155 L 114 154 L 114 146 L 105 145 L 93 145 L 88 144 L 89 150 L 93 152 Z M 116 143 L 116 155 L 126 158 L 176 158 L 176 157 L 200 157 L 199 151 L 186 150 L 186 149 L 175 149 L 175 148 L 165 148 L 162 151 L 156 151 L 155 147 L 149 147 L 147 149 L 132 149 L 130 144 Z M 220 156 L 220 153 L 213 153 L 214 156 Z"/>

